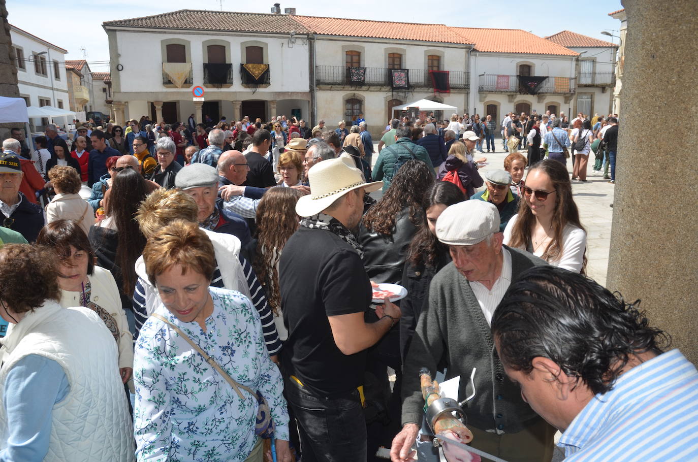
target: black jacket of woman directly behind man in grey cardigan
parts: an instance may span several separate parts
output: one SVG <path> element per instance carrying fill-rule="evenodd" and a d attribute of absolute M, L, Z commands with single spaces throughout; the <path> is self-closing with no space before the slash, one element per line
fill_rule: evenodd
<path fill-rule="evenodd" d="M 408 256 L 408 255 L 406 255 Z M 401 300 L 400 311 L 400 354 L 404 361 L 407 350 L 415 334 L 417 321 L 426 304 L 426 295 L 429 293 L 429 284 L 438 271 L 451 262 L 451 255 L 446 249 L 436 255 L 436 266 L 419 264 L 413 266 L 409 262 L 405 264 L 400 285 L 407 289 L 407 297 Z"/>

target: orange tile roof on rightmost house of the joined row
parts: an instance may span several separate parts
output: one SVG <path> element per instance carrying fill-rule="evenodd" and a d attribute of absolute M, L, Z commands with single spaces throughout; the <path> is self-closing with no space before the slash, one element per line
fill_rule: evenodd
<path fill-rule="evenodd" d="M 475 50 L 480 52 L 577 56 L 577 53 L 572 50 L 521 29 L 479 29 L 475 27 L 449 27 L 449 29 L 467 38 L 470 43 L 475 43 Z"/>

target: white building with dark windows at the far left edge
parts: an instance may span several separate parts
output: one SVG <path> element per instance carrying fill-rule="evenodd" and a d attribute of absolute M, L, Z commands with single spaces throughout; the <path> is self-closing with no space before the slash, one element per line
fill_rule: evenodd
<path fill-rule="evenodd" d="M 68 50 L 10 25 L 20 96 L 27 106 L 68 108 Z M 38 120 L 36 121 L 38 123 Z"/>

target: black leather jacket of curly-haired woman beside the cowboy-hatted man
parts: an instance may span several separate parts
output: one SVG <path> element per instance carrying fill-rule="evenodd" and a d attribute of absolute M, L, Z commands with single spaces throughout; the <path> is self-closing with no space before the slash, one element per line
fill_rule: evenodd
<path fill-rule="evenodd" d="M 358 240 L 364 248 L 364 268 L 371 281 L 400 283 L 406 249 L 415 232 L 417 227 L 410 221 L 410 211 L 407 208 L 397 215 L 392 236 L 367 230 L 363 222 L 359 223 Z"/>

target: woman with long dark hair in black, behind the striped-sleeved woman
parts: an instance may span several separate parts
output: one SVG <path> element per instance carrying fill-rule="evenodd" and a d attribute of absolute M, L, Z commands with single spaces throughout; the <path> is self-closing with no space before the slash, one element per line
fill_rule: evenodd
<path fill-rule="evenodd" d="M 131 297 L 138 276 L 134 264 L 145 247 L 145 237 L 135 221 L 140 202 L 148 193 L 145 179 L 133 168 L 121 170 L 110 188 L 107 218 L 89 232 L 97 255 L 97 264 L 109 269 L 119 285 L 124 309 L 131 307 Z"/>

